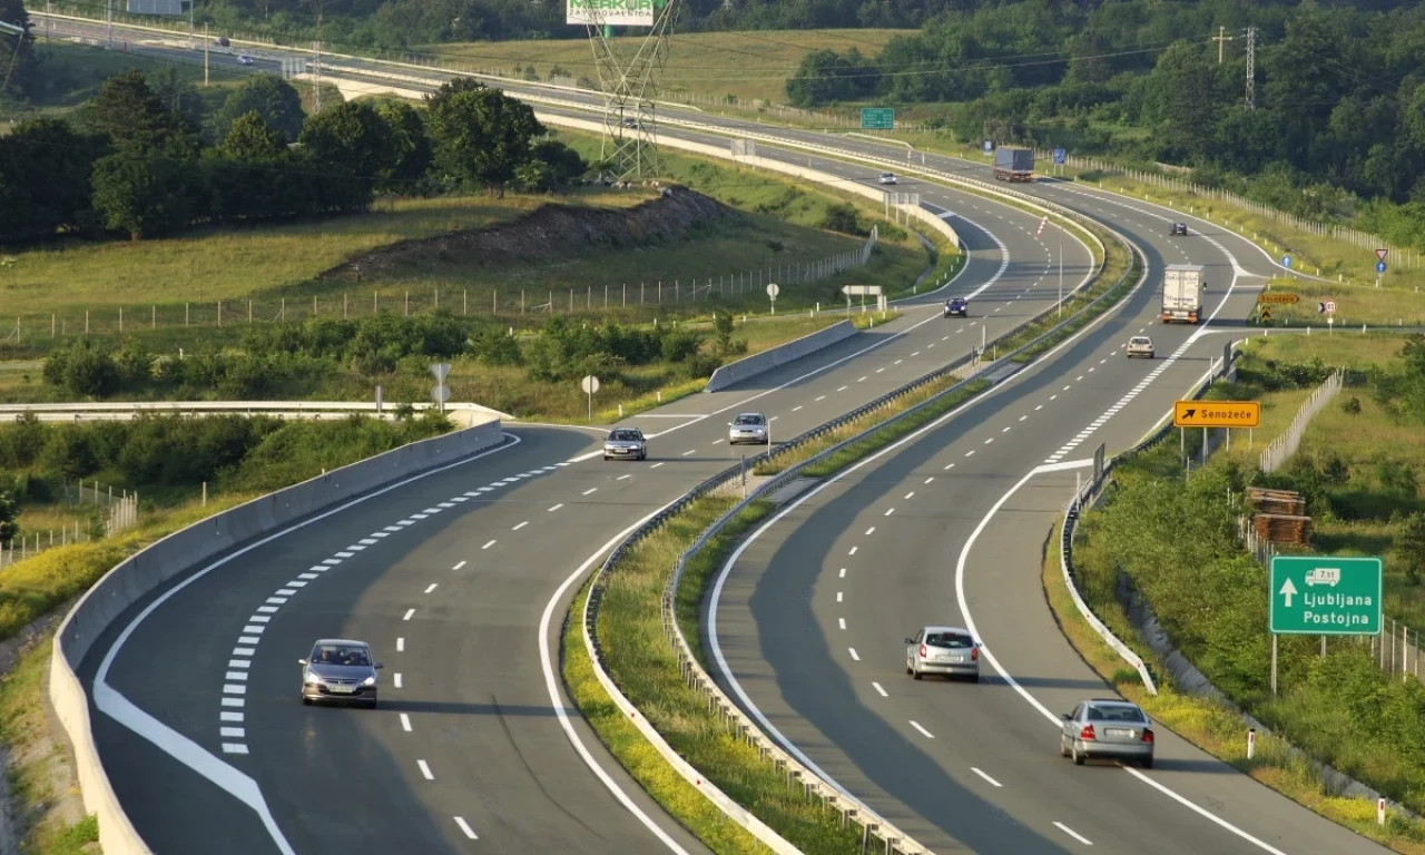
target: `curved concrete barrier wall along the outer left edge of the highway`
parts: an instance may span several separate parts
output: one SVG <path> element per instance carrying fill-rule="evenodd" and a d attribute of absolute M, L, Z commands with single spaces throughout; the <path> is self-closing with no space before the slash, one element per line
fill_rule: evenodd
<path fill-rule="evenodd" d="M 420 472 L 456 463 L 504 440 L 499 419 L 413 442 L 214 514 L 145 547 L 91 587 L 54 634 L 50 703 L 74 748 L 84 809 L 98 817 L 105 855 L 147 855 L 110 785 L 94 744 L 90 703 L 76 670 L 95 640 L 140 598 L 244 542 Z"/>

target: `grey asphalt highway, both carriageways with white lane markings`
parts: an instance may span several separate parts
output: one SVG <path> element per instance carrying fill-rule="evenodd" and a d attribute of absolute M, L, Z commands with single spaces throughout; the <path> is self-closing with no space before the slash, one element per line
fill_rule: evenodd
<path fill-rule="evenodd" d="M 886 154 L 777 133 L 845 158 Z M 882 168 L 809 162 L 864 182 Z M 988 177 L 950 158 L 926 165 Z M 150 845 L 701 851 L 566 714 L 551 653 L 564 606 L 623 532 L 732 459 L 728 415 L 764 410 L 779 436 L 795 435 L 959 356 L 979 325 L 993 336 L 1054 298 L 1057 241 L 1035 239 L 1036 217 L 933 184 L 906 190 L 946 209 L 966 239 L 970 264 L 943 295 L 983 289 L 969 321 L 902 306 L 901 319 L 745 388 L 633 419 L 654 435 L 646 463 L 604 465 L 594 432 L 512 425 L 494 453 L 195 567 L 117 621 L 84 677 L 117 712 L 97 714 L 94 728 Z M 1099 442 L 1110 453 L 1129 445 L 1206 370 L 1271 266 L 1207 224 L 1167 238 L 1168 214 L 1153 205 L 1057 182 L 1020 190 L 1114 225 L 1143 248 L 1149 282 L 1163 264 L 1207 264 L 1213 323 L 1151 325 L 1146 288 L 989 398 L 788 509 L 730 564 L 718 600 L 734 691 L 942 852 L 1372 849 L 1170 734 L 1150 772 L 1057 762 L 1045 714 L 1107 688 L 1043 606 L 1047 520 L 1077 460 Z M 1066 254 L 1076 285 L 1089 259 L 1073 242 Z M 1121 359 L 1139 329 L 1168 358 Z M 940 620 L 986 641 L 995 665 L 980 685 L 901 678 L 901 638 Z M 295 660 L 318 636 L 372 641 L 386 664 L 379 711 L 296 703 Z"/>

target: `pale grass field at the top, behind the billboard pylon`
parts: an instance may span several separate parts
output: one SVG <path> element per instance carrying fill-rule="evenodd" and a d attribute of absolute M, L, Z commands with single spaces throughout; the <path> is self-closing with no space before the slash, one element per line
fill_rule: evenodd
<path fill-rule="evenodd" d="M 732 95 L 738 103 L 754 98 L 787 103 L 787 78 L 797 71 L 802 57 L 814 50 L 846 53 L 852 47 L 866 57 L 881 53 L 892 37 L 913 30 L 770 30 L 758 33 L 675 34 L 663 74 L 663 97 L 677 100 L 680 93 L 711 98 Z M 641 37 L 614 38 L 614 50 L 628 56 Z M 539 80 L 549 81 L 554 70 L 561 77 L 598 80 L 587 38 L 549 41 L 479 41 L 469 44 L 433 44 L 425 48 L 445 61 L 479 68 L 502 68 L 512 77 L 524 77 L 533 67 Z"/>

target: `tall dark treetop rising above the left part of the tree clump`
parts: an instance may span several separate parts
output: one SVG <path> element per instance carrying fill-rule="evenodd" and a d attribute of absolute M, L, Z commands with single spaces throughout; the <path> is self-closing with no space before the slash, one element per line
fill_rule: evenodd
<path fill-rule="evenodd" d="M 134 154 L 194 157 L 201 145 L 188 120 L 168 110 L 137 68 L 110 77 L 84 104 L 84 124 Z"/>

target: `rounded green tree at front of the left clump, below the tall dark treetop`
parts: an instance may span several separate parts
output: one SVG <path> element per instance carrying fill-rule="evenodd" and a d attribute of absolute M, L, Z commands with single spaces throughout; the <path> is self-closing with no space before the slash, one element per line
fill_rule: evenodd
<path fill-rule="evenodd" d="M 94 209 L 105 228 L 138 241 L 192 222 L 201 211 L 200 181 L 191 162 L 111 154 L 94 164 Z"/>

